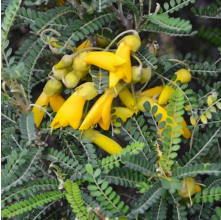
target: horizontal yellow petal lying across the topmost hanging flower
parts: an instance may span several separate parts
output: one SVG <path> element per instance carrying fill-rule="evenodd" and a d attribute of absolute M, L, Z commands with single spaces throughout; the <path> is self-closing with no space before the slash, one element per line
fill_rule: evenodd
<path fill-rule="evenodd" d="M 126 60 L 121 57 L 105 51 L 90 52 L 86 56 L 85 61 L 87 64 L 95 65 L 112 72 L 116 71 L 116 66 L 126 63 Z"/>

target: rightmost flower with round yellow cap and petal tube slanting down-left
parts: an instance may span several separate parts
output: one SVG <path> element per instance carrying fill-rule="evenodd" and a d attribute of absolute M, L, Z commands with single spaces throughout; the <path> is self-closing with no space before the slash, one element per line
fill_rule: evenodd
<path fill-rule="evenodd" d="M 174 81 L 174 83 L 176 83 L 177 81 L 181 81 L 181 83 L 188 83 L 191 80 L 191 74 L 186 69 L 180 69 L 175 74 L 177 75 L 177 78 Z M 172 86 L 166 85 L 160 94 L 158 103 L 160 105 L 166 104 L 168 102 L 168 100 L 170 99 L 172 91 L 174 91 Z"/>

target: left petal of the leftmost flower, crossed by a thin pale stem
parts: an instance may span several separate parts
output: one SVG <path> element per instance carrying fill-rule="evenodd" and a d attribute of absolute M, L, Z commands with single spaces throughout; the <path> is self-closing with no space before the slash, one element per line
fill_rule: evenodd
<path fill-rule="evenodd" d="M 41 95 L 38 97 L 37 101 L 35 102 L 35 105 L 38 105 L 38 107 L 34 106 L 32 109 L 32 112 L 34 113 L 34 121 L 37 127 L 41 124 L 41 121 L 44 117 L 45 112 L 40 108 L 46 109 L 49 103 L 48 96 L 42 92 Z"/>

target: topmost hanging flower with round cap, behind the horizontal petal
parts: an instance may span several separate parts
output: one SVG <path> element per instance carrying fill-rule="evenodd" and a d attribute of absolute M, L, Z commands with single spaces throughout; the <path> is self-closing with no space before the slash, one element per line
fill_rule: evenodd
<path fill-rule="evenodd" d="M 132 71 L 131 71 L 131 60 L 130 53 L 131 51 L 136 52 L 141 45 L 140 38 L 138 35 L 129 35 L 124 37 L 118 45 L 116 55 L 126 60 L 121 66 L 117 67 L 117 70 L 110 71 L 109 73 L 109 87 L 114 87 L 120 79 L 123 79 L 125 82 L 130 83 L 132 80 Z"/>

